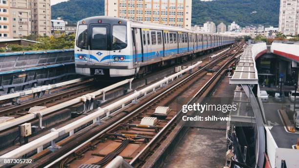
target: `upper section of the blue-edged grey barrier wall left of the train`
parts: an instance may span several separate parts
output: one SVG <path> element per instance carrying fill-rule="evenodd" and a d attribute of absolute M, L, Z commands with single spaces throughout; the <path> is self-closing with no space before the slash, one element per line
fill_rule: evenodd
<path fill-rule="evenodd" d="M 0 71 L 73 62 L 72 49 L 0 53 Z"/>

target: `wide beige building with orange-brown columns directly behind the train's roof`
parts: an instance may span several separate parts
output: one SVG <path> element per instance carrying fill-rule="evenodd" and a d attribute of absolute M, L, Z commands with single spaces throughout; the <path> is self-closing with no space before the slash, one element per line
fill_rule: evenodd
<path fill-rule="evenodd" d="M 192 0 L 105 0 L 105 16 L 191 29 Z"/>

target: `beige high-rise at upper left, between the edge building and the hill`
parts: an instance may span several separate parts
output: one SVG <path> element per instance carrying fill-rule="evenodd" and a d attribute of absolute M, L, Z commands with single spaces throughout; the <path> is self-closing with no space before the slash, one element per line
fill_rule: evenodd
<path fill-rule="evenodd" d="M 12 36 L 51 35 L 50 4 L 50 0 L 11 0 Z"/>

